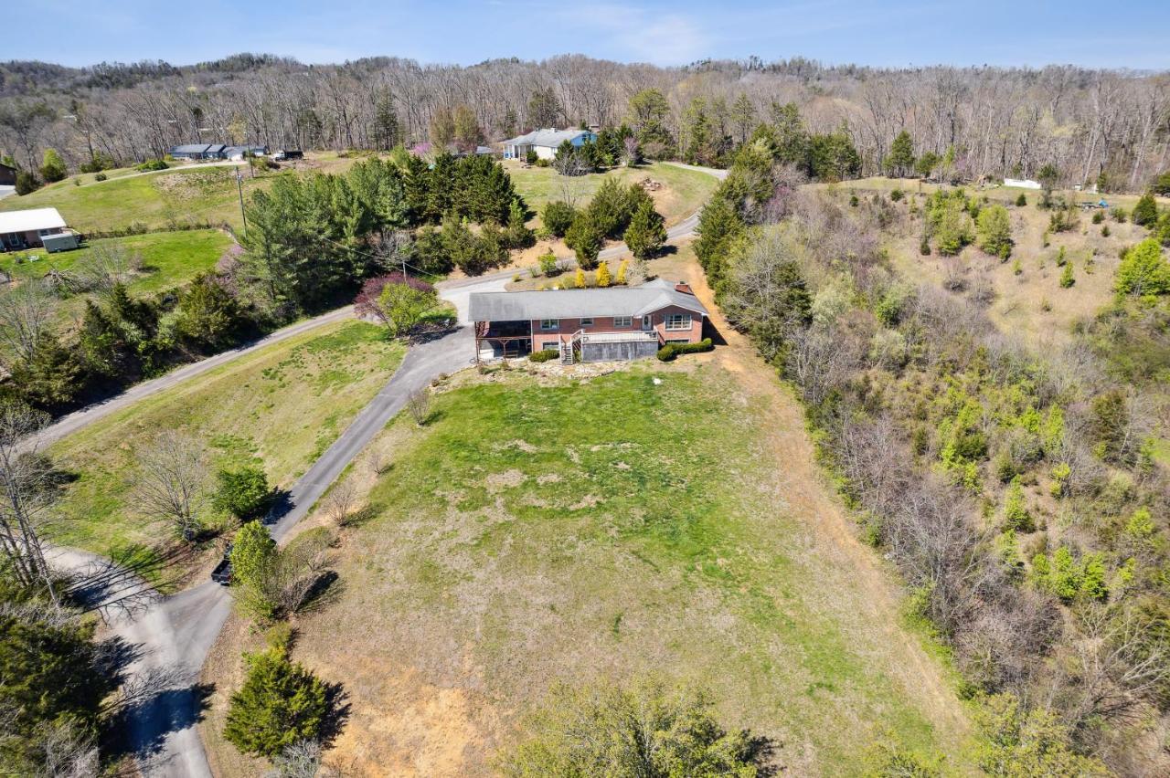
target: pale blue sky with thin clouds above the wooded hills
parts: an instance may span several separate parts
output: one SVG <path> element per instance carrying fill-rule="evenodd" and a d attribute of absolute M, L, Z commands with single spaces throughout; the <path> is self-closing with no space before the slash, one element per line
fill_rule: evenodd
<path fill-rule="evenodd" d="M 870 65 L 1170 69 L 1170 0 L 5 0 L 0 58 L 81 65 L 238 51 L 470 64 L 579 53 L 622 62 L 805 56 Z"/>

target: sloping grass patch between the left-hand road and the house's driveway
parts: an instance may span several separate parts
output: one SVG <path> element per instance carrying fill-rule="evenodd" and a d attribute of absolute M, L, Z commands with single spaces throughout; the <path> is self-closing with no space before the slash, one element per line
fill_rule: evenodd
<path fill-rule="evenodd" d="M 241 356 L 147 397 L 49 450 L 76 475 L 58 505 L 56 543 L 110 556 L 173 540 L 136 510 L 136 450 L 163 430 L 207 447 L 215 467 L 262 464 L 288 487 L 385 385 L 405 348 L 366 322 L 343 321 Z"/>

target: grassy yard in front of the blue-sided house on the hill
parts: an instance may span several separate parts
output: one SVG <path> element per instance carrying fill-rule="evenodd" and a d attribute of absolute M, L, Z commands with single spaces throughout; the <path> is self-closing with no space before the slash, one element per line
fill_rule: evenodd
<path fill-rule="evenodd" d="M 551 167 L 524 168 L 517 162 L 508 162 L 505 167 L 516 185 L 516 192 L 524 197 L 528 207 L 537 213 L 550 200 L 567 197 L 576 201 L 578 207 L 586 204 L 606 176 L 618 176 L 627 183 L 646 178 L 654 179 L 663 185 L 662 189 L 652 195 L 668 225 L 698 210 L 718 186 L 718 180 L 714 175 L 662 162 L 636 168 L 618 167 L 606 173 L 576 178 L 563 176 Z"/>

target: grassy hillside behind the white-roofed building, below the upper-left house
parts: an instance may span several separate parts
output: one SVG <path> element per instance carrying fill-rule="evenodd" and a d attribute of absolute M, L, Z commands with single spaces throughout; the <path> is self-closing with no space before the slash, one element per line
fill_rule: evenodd
<path fill-rule="evenodd" d="M 275 175 L 246 176 L 245 201 L 252 192 L 267 187 Z M 66 223 L 81 232 L 135 223 L 147 229 L 204 222 L 242 227 L 235 168 L 230 167 L 187 167 L 82 186 L 61 182 L 22 197 L 0 200 L 0 210 L 49 207 L 60 210 Z"/>

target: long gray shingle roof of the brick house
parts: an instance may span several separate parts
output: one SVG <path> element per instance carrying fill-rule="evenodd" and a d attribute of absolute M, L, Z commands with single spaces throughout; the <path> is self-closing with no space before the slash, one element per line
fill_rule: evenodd
<path fill-rule="evenodd" d="M 707 315 L 707 308 L 697 297 L 680 292 L 672 282 L 660 278 L 640 286 L 550 292 L 473 292 L 469 296 L 472 321 L 642 317 L 670 305 Z"/>

